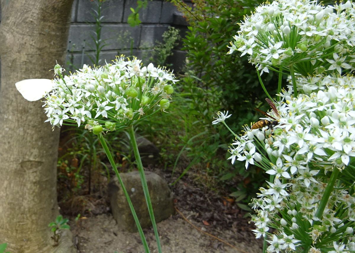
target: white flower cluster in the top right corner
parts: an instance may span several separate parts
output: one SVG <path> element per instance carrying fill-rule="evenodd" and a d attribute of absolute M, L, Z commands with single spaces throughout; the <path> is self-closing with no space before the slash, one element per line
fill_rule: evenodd
<path fill-rule="evenodd" d="M 275 0 L 245 17 L 229 54 L 249 54 L 258 70 L 283 66 L 303 76 L 355 69 L 355 4 L 324 7 L 309 0 Z M 329 72 L 328 72 L 329 73 Z"/>

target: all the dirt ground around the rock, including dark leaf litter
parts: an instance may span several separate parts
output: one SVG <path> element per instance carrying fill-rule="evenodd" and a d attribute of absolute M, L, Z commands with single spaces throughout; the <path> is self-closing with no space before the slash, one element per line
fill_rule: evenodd
<path fill-rule="evenodd" d="M 170 172 L 149 169 L 169 182 Z M 104 184 L 103 184 L 104 185 Z M 240 210 L 236 203 L 217 193 L 207 190 L 193 180 L 193 175 L 185 175 L 170 187 L 174 193 L 174 204 L 179 210 L 169 219 L 157 224 L 164 253 L 260 253 L 262 241 L 255 239 L 249 224 L 250 215 Z M 78 253 L 141 253 L 144 252 L 138 233 L 124 232 L 113 219 L 105 187 L 90 197 L 78 199 L 87 203 L 85 214 L 73 210 L 71 231 Z M 64 204 L 73 206 L 73 202 Z M 69 210 L 62 206 L 62 210 Z M 180 212 L 180 213 L 179 213 Z M 75 213 L 83 214 L 75 222 Z M 70 214 L 67 214 L 70 215 Z M 246 217 L 247 216 L 247 217 Z M 189 222 L 191 222 L 191 224 Z M 195 226 L 195 227 L 194 227 Z M 206 235 L 206 233 L 210 235 Z M 151 252 L 158 252 L 152 228 L 144 230 Z M 222 239 L 218 241 L 213 236 Z M 229 245 L 228 245 L 229 244 Z"/>

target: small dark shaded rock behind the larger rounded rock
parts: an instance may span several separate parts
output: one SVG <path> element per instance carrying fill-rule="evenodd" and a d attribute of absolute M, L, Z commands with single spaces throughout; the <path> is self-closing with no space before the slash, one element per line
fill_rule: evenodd
<path fill-rule="evenodd" d="M 136 140 L 143 166 L 148 167 L 148 165 L 154 165 L 157 163 L 160 156 L 157 146 L 138 134 L 136 134 Z"/>

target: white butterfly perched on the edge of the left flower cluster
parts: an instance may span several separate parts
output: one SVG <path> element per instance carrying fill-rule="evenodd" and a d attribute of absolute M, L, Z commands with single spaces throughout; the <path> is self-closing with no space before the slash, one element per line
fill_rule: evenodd
<path fill-rule="evenodd" d="M 16 84 L 17 90 L 28 101 L 37 101 L 44 97 L 45 93 L 53 90 L 53 82 L 49 79 L 26 79 Z"/>

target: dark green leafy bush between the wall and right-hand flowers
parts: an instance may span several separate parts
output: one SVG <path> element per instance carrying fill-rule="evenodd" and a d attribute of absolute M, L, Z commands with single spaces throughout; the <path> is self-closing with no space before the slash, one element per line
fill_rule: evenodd
<path fill-rule="evenodd" d="M 251 112 L 251 108 L 264 104 L 264 94 L 256 74 L 255 67 L 247 61 L 247 56 L 240 54 L 227 55 L 227 45 L 239 29 L 238 23 L 244 15 L 261 4 L 262 0 L 197 0 L 193 8 L 180 0 L 173 0 L 183 12 L 190 27 L 183 40 L 187 52 L 187 68 L 199 79 L 194 85 L 204 90 L 215 91 L 215 97 L 199 94 L 206 100 L 212 111 L 229 110 L 233 113 L 229 122 L 234 122 L 236 129 L 257 120 L 260 115 Z M 262 76 L 267 78 L 264 84 L 270 94 L 274 94 L 277 79 L 272 74 Z M 276 76 L 275 76 L 276 77 Z M 182 85 L 191 88 L 190 79 L 182 80 Z M 205 111 L 207 108 L 201 108 Z M 264 109 L 268 109 L 264 107 Z M 211 115 L 210 115 L 211 117 Z"/>

